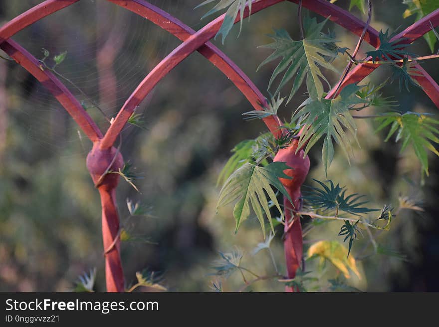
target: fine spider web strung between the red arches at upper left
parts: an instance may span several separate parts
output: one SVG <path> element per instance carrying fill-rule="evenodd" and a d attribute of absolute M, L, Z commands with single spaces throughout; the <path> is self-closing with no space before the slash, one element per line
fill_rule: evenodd
<path fill-rule="evenodd" d="M 8 1 L 3 4 L 2 20 L 7 21 L 40 2 Z M 149 2 L 194 29 L 202 25 L 193 14 L 197 0 Z M 117 114 L 143 78 L 181 42 L 147 19 L 104 0 L 74 3 L 26 27 L 12 39 L 37 59 L 43 58 L 43 48 L 49 50 L 49 67 L 54 55 L 67 51 L 56 71 L 74 85 L 59 79 L 103 132 L 109 126 L 108 120 Z M 16 63 L 8 63 L 7 67 L 8 124 L 25 135 L 32 147 L 60 156 L 84 156 L 90 142 L 57 100 Z M 143 114 L 143 120 L 149 120 L 145 110 L 153 95 L 154 91 L 136 109 L 136 113 Z M 136 129 L 125 127 L 124 144 Z"/>

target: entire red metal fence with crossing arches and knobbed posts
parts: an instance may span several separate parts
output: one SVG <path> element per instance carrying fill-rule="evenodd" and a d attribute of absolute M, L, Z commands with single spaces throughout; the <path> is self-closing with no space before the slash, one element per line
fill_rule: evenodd
<path fill-rule="evenodd" d="M 264 105 L 266 105 L 266 100 L 244 72 L 210 42 L 219 31 L 225 14 L 214 19 L 199 31 L 195 31 L 177 18 L 147 1 L 108 0 L 152 21 L 183 42 L 145 77 L 120 109 L 108 130 L 103 134 L 64 84 L 49 70 L 41 69 L 40 62 L 27 52 L 26 49 L 11 39 L 14 34 L 23 28 L 78 1 L 79 0 L 46 0 L 13 18 L 0 28 L 0 48 L 53 94 L 73 117 L 85 135 L 93 142 L 93 148 L 87 156 L 87 168 L 101 196 L 102 234 L 106 262 L 107 291 L 124 292 L 125 282 L 120 260 L 119 216 L 116 206 L 116 188 L 119 177 L 117 174 L 106 174 L 106 172 L 110 169 L 117 171 L 123 166 L 123 158 L 114 147 L 114 144 L 136 107 L 139 106 L 145 97 L 168 73 L 195 51 L 200 52 L 214 64 L 239 91 L 241 91 L 254 109 L 263 109 Z M 253 0 L 251 14 L 282 1 L 283 0 Z M 299 2 L 298 0 L 289 1 Z M 302 5 L 324 17 L 329 16 L 330 20 L 358 36 L 360 36 L 365 29 L 365 22 L 326 0 L 303 0 Z M 248 7 L 246 7 L 243 17 L 245 18 L 249 14 Z M 235 23 L 240 20 L 239 17 L 240 15 L 238 14 Z M 432 26 L 437 27 L 438 25 L 439 9 L 406 28 L 396 35 L 393 40 L 403 38 L 401 42 L 412 43 L 429 32 Z M 376 48 L 380 46 L 378 31 L 370 26 L 366 28 L 364 40 Z M 340 92 L 341 89 L 349 84 L 360 82 L 377 67 L 379 67 L 379 64 L 362 63 L 357 65 L 349 72 L 339 88 L 334 88 L 328 93 L 327 98 L 331 98 L 334 93 Z M 417 74 L 413 76 L 413 78 L 417 80 L 425 93 L 439 108 L 438 84 L 419 64 L 416 65 L 416 68 L 419 76 Z M 268 116 L 264 118 L 263 121 L 275 137 L 281 136 L 282 129 L 279 128 L 281 121 L 277 116 Z M 293 200 L 293 204 L 291 204 L 284 199 L 286 218 L 284 248 L 287 278 L 290 279 L 295 277 L 296 270 L 300 267 L 303 256 L 300 219 L 294 215 L 292 205 L 294 205 L 296 210 L 300 208 L 300 188 L 309 170 L 308 157 L 303 158 L 303 152 L 295 154 L 296 147 L 297 143 L 293 141 L 289 148 L 279 150 L 274 159 L 275 161 L 286 162 L 287 165 L 294 168 L 285 171 L 286 174 L 293 177 L 292 180 L 281 180 Z M 295 290 L 291 287 L 287 287 L 286 291 Z"/>

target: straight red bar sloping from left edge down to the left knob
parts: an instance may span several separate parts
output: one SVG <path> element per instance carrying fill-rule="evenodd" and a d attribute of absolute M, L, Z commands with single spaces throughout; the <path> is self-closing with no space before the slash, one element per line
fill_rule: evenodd
<path fill-rule="evenodd" d="M 102 138 L 102 133 L 81 104 L 50 71 L 40 67 L 40 63 L 27 50 L 12 40 L 3 41 L 0 48 L 19 65 L 32 74 L 67 110 L 82 131 L 92 141 Z"/>

